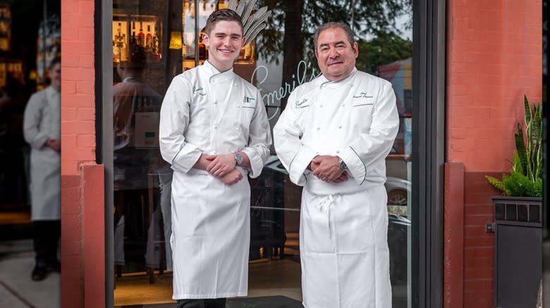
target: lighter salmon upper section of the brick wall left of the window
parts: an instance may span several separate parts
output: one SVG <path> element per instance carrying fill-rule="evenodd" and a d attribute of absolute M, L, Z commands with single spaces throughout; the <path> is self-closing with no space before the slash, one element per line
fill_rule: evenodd
<path fill-rule="evenodd" d="M 61 1 L 61 174 L 95 161 L 94 1 Z"/>

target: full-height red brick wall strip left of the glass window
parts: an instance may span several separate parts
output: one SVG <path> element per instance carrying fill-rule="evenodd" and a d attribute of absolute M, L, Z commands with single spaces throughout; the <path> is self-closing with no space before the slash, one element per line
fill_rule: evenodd
<path fill-rule="evenodd" d="M 104 169 L 95 164 L 94 1 L 61 1 L 61 304 L 104 307 Z"/>

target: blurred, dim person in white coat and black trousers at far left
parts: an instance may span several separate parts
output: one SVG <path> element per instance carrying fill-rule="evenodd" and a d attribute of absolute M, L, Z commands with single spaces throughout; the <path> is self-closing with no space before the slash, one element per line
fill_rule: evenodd
<path fill-rule="evenodd" d="M 50 86 L 32 94 L 23 118 L 30 144 L 30 205 L 35 268 L 32 280 L 60 271 L 57 247 L 61 236 L 61 58 L 47 70 Z"/>

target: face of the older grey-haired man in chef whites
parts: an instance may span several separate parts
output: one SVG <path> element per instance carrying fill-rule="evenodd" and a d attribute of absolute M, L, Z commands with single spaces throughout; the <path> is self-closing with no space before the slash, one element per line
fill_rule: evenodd
<path fill-rule="evenodd" d="M 358 55 L 357 43 L 351 44 L 343 29 L 331 27 L 319 33 L 315 56 L 326 79 L 336 82 L 348 77 L 355 68 Z"/>

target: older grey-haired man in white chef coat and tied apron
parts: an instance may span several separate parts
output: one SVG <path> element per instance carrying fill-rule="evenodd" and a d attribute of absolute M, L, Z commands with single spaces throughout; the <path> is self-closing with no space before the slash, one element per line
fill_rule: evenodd
<path fill-rule="evenodd" d="M 344 23 L 314 37 L 322 75 L 298 86 L 274 127 L 274 145 L 300 212 L 305 308 L 391 307 L 385 158 L 399 125 L 390 82 L 355 68 Z"/>

